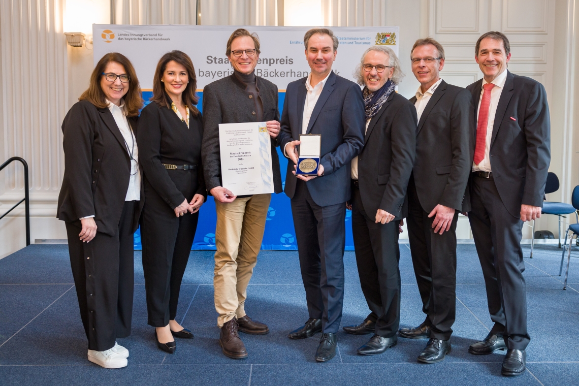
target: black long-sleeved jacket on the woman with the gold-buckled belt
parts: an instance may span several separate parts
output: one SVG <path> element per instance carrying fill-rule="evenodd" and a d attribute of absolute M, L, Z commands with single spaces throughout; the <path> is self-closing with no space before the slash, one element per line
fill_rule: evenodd
<path fill-rule="evenodd" d="M 167 97 L 168 98 L 168 97 Z M 203 119 L 201 113 L 189 116 L 189 127 L 167 106 L 151 102 L 141 111 L 137 131 L 139 160 L 146 186 L 152 189 L 171 209 L 177 208 L 190 193 L 207 198 L 201 139 Z M 197 165 L 195 170 L 168 170 L 163 164 Z M 149 192 L 151 189 L 147 188 Z"/>

